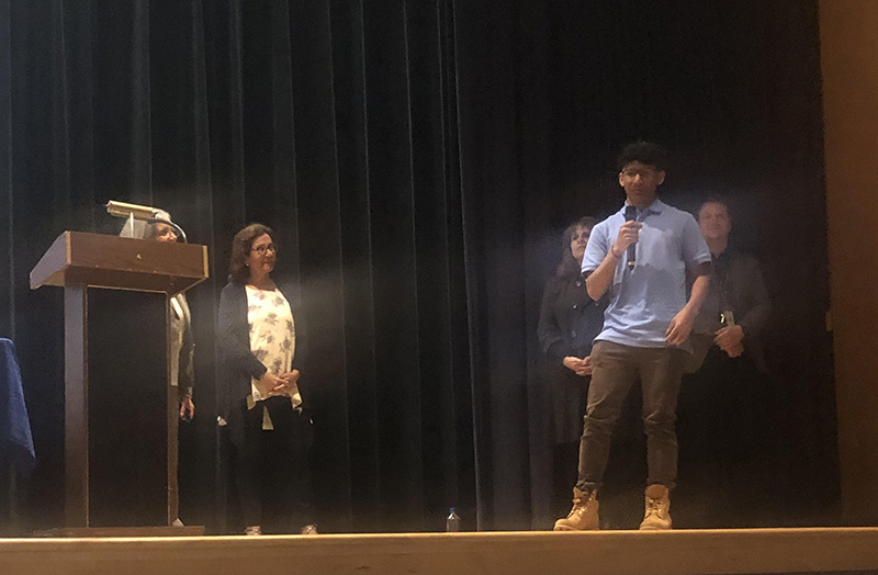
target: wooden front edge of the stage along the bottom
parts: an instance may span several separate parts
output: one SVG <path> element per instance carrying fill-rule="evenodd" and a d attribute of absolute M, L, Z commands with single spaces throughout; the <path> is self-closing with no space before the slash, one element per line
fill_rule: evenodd
<path fill-rule="evenodd" d="M 2 575 L 878 573 L 878 528 L 0 539 Z"/>

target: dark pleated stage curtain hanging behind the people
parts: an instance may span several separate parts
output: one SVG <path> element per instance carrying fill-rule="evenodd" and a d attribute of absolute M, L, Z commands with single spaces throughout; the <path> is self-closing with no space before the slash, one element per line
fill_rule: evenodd
<path fill-rule="evenodd" d="M 209 247 L 184 522 L 226 528 L 214 322 L 232 236 L 258 221 L 301 285 L 322 529 L 438 530 L 450 506 L 466 529 L 548 527 L 541 290 L 560 230 L 621 204 L 612 158 L 637 137 L 673 153 L 667 201 L 739 208 L 775 296 L 777 465 L 821 510 L 801 520 L 825 521 L 817 7 L 764 4 L 0 0 L 0 336 L 38 456 L 27 527 L 61 522 L 64 477 L 63 298 L 27 273 L 65 229 L 115 233 L 111 199 Z"/>

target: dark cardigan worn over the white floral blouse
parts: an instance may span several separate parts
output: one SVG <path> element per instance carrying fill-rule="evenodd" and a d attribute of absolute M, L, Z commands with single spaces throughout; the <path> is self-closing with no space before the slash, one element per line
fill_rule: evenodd
<path fill-rule="evenodd" d="M 295 322 L 295 357 L 293 368 L 302 371 L 304 342 L 301 317 L 294 307 L 293 291 L 279 286 L 290 303 Z M 237 418 L 235 406 L 250 394 L 254 377 L 261 377 L 266 371 L 262 362 L 250 351 L 250 326 L 247 324 L 247 291 L 244 284 L 227 283 L 219 295 L 219 312 L 216 329 L 217 350 L 217 411 L 229 424 Z M 302 390 L 300 388 L 300 394 Z M 302 394 L 302 404 L 305 396 Z"/>

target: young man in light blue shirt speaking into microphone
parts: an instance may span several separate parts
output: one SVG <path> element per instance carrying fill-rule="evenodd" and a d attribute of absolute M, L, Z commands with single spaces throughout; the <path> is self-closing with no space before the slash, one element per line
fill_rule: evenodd
<path fill-rule="evenodd" d="M 677 477 L 676 405 L 683 360 L 707 294 L 710 250 L 691 214 L 656 198 L 665 151 L 646 142 L 619 155 L 626 205 L 592 230 L 583 258 L 593 300 L 610 293 L 592 350 L 579 476 L 573 508 L 556 531 L 598 529 L 598 500 L 610 439 L 631 385 L 640 377 L 646 433 L 646 509 L 641 529 L 671 529 L 669 492 Z M 632 247 L 629 250 L 629 247 Z M 632 257 L 633 256 L 633 257 Z M 686 297 L 687 273 L 695 275 Z"/>

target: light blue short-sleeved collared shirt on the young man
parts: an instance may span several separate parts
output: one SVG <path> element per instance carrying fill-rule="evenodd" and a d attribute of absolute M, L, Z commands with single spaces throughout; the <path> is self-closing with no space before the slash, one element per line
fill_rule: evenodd
<path fill-rule="evenodd" d="M 671 320 L 686 305 L 686 270 L 710 261 L 710 250 L 691 214 L 658 200 L 638 210 L 638 222 L 643 227 L 635 244 L 637 264 L 629 269 L 628 257 L 619 258 L 604 329 L 595 341 L 658 348 L 665 346 Z M 600 266 L 622 224 L 624 207 L 595 226 L 585 248 L 584 273 Z M 688 342 L 682 348 L 690 350 Z"/>

